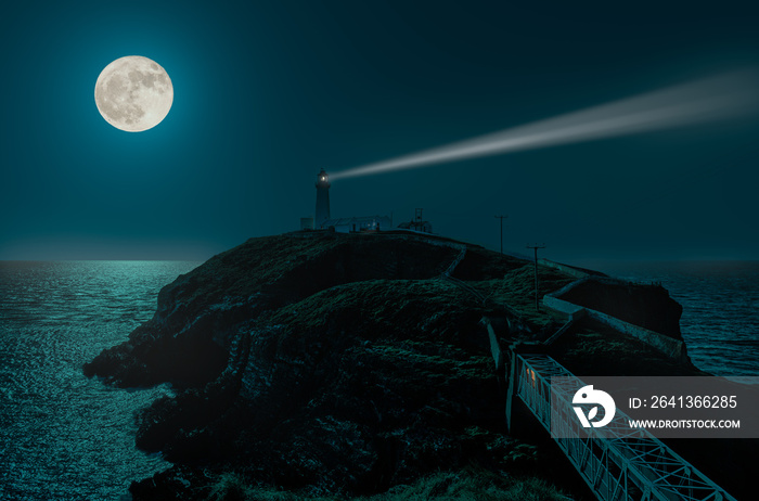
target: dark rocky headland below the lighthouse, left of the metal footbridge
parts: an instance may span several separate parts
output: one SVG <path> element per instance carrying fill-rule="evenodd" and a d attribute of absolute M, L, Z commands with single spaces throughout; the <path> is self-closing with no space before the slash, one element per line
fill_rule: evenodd
<path fill-rule="evenodd" d="M 465 283 L 441 278 L 462 255 L 453 275 Z M 472 462 L 536 471 L 535 449 L 504 433 L 505 395 L 478 323 L 524 327 L 500 333 L 504 342 L 554 332 L 559 323 L 531 306 L 531 273 L 524 260 L 432 236 L 254 239 L 164 287 L 153 319 L 85 372 L 179 389 L 138 416 L 138 446 L 176 466 L 132 485 L 134 499 L 206 499 L 229 471 L 342 494 Z M 540 279 L 541 294 L 574 280 L 542 267 Z M 588 326 L 557 356 L 579 359 L 583 335 L 603 338 Z"/>

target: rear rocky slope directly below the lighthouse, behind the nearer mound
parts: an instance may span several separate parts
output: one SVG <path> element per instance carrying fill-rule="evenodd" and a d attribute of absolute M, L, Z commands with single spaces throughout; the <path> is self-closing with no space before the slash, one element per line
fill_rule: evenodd
<path fill-rule="evenodd" d="M 215 378 L 241 322 L 335 285 L 372 279 L 426 279 L 445 270 L 450 246 L 344 235 L 254 239 L 165 286 L 153 319 L 129 341 L 85 367 L 119 386 L 169 381 L 197 386 Z"/>

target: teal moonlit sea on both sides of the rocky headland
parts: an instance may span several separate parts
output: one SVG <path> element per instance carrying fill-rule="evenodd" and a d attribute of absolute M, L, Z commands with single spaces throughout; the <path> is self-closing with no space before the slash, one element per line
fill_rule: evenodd
<path fill-rule="evenodd" d="M 0 261 L 0 500 L 117 500 L 169 466 L 134 447 L 134 412 L 171 388 L 114 388 L 81 367 L 127 339 L 160 287 L 198 265 Z M 759 261 L 586 266 L 661 283 L 683 305 L 697 367 L 759 376 Z"/>

